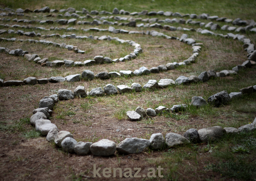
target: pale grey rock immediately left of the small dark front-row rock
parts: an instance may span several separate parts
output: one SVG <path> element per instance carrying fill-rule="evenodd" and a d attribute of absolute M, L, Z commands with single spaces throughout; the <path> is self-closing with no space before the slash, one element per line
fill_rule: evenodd
<path fill-rule="evenodd" d="M 184 137 L 177 133 L 167 133 L 165 135 L 165 142 L 168 147 L 188 144 L 189 141 Z"/>

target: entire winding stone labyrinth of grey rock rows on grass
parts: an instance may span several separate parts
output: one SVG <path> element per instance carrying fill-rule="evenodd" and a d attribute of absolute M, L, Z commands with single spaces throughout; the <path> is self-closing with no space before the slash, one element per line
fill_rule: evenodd
<path fill-rule="evenodd" d="M 0 9 L 1 11 L 1 20 L 5 24 L 1 24 L 0 26 L 3 28 L 0 30 L 0 41 L 2 42 L 2 45 L 4 45 L 6 42 L 25 42 L 27 44 L 33 45 L 33 44 L 43 44 L 47 46 L 54 46 L 61 49 L 66 49 L 67 51 L 73 51 L 74 53 L 84 54 L 85 50 L 83 50 L 83 47 L 79 47 L 76 45 L 69 45 L 67 44 L 68 41 L 65 39 L 78 39 L 79 41 L 86 41 L 86 39 L 94 39 L 96 41 L 116 41 L 120 44 L 129 44 L 133 47 L 133 52 L 130 54 L 125 55 L 124 57 L 116 57 L 115 59 L 111 59 L 109 57 L 104 57 L 101 55 L 95 55 L 91 58 L 91 60 L 85 60 L 85 61 L 71 61 L 71 60 L 54 60 L 49 61 L 49 57 L 39 57 L 38 54 L 30 54 L 29 51 L 22 50 L 22 49 L 15 49 L 10 50 L 8 47 L 0 47 L 1 54 L 8 54 L 8 56 L 20 56 L 24 59 L 27 59 L 29 63 L 35 63 L 37 65 L 43 66 L 43 68 L 48 67 L 58 67 L 58 66 L 65 66 L 67 69 L 74 66 L 89 66 L 93 64 L 118 64 L 119 62 L 124 61 L 133 61 L 133 59 L 136 59 L 140 56 L 140 54 L 143 52 L 143 46 L 141 46 L 138 42 L 136 42 L 136 38 L 134 40 L 123 40 L 118 37 L 111 37 L 111 36 L 80 36 L 76 35 L 75 32 L 76 28 L 69 27 L 64 28 L 62 25 L 91 25 L 91 26 L 97 26 L 100 24 L 108 25 L 108 29 L 99 29 L 96 27 L 93 28 L 81 28 L 84 32 L 87 34 L 92 31 L 101 31 L 101 32 L 110 32 L 113 34 L 113 36 L 118 36 L 121 34 L 140 34 L 142 36 L 152 36 L 157 39 L 168 39 L 170 41 L 180 41 L 187 45 L 191 46 L 192 56 L 187 57 L 186 60 L 182 62 L 173 62 L 173 63 L 167 63 L 166 65 L 161 64 L 157 67 L 137 67 L 135 70 L 121 70 L 119 72 L 115 72 L 114 70 L 111 72 L 100 72 L 94 75 L 94 72 L 91 70 L 84 70 L 81 72 L 81 74 L 75 74 L 75 75 L 68 75 L 66 77 L 62 76 L 56 76 L 56 77 L 50 77 L 50 78 L 42 78 L 37 79 L 36 77 L 28 77 L 24 80 L 8 80 L 4 81 L 0 79 L 0 86 L 22 86 L 24 84 L 47 84 L 49 82 L 76 82 L 83 80 L 93 80 L 95 78 L 98 79 L 109 79 L 114 77 L 121 77 L 123 76 L 124 79 L 129 78 L 130 76 L 145 76 L 149 74 L 156 74 L 159 72 L 165 72 L 165 71 L 173 71 L 174 69 L 178 68 L 179 66 L 190 66 L 193 63 L 196 63 L 196 58 L 200 56 L 201 47 L 203 46 L 203 43 L 197 43 L 195 39 L 190 38 L 187 34 L 182 34 L 181 37 L 174 37 L 174 36 L 168 36 L 164 33 L 160 33 L 157 31 L 157 29 L 165 29 L 169 31 L 194 31 L 197 34 L 206 34 L 206 35 L 214 35 L 219 36 L 221 38 L 230 38 L 234 41 L 240 41 L 243 42 L 243 48 L 248 53 L 247 57 L 248 60 L 244 61 L 241 65 L 237 65 L 232 68 L 232 70 L 222 70 L 220 72 L 215 72 L 214 70 L 205 70 L 204 72 L 201 72 L 198 76 L 190 76 L 185 77 L 183 75 L 180 75 L 176 80 L 172 79 L 161 79 L 161 80 L 148 80 L 146 84 L 143 86 L 134 82 L 132 83 L 131 87 L 127 85 L 118 85 L 114 86 L 112 84 L 107 84 L 103 87 L 95 87 L 89 92 L 86 91 L 84 86 L 78 86 L 75 90 L 67 90 L 67 89 L 59 89 L 58 94 L 53 94 L 51 96 L 43 97 L 39 102 L 39 107 L 35 110 L 31 110 L 33 112 L 33 115 L 30 118 L 30 123 L 35 126 L 36 131 L 39 131 L 43 136 L 46 136 L 46 139 L 49 142 L 55 142 L 59 147 L 61 147 L 65 152 L 68 153 L 76 153 L 78 155 L 86 155 L 89 152 L 91 152 L 93 155 L 96 156 L 109 156 L 115 154 L 115 152 L 124 153 L 124 154 L 133 154 L 133 153 L 140 153 L 145 148 L 149 147 L 151 149 L 159 150 L 164 147 L 165 144 L 167 144 L 168 147 L 173 147 L 176 145 L 182 145 L 186 143 L 199 143 L 199 142 L 208 142 L 208 141 L 214 141 L 219 139 L 223 132 L 226 133 L 239 133 L 242 131 L 253 131 L 256 129 L 256 119 L 253 123 L 244 125 L 240 127 L 239 129 L 232 128 L 232 127 L 226 127 L 222 128 L 221 126 L 214 126 L 214 127 L 207 127 L 203 129 L 189 129 L 187 130 L 184 135 L 180 135 L 177 133 L 167 133 L 164 136 L 162 133 L 156 133 L 152 134 L 150 139 L 141 139 L 136 137 L 130 137 L 124 139 L 122 142 L 120 142 L 118 145 L 114 141 L 108 140 L 108 139 L 102 139 L 98 142 L 92 143 L 92 142 L 77 142 L 73 135 L 65 130 L 59 130 L 57 126 L 49 120 L 53 108 L 55 104 L 58 104 L 59 100 L 68 100 L 68 99 L 74 99 L 75 97 L 87 97 L 87 96 L 104 96 L 104 95 L 113 95 L 113 99 L 115 98 L 114 95 L 120 93 L 127 93 L 127 92 L 141 92 L 148 90 L 156 90 L 166 87 L 170 85 L 181 85 L 181 84 L 190 84 L 190 83 L 200 83 L 200 82 L 206 82 L 210 79 L 214 79 L 217 77 L 226 77 L 230 74 L 239 74 L 239 71 L 241 69 L 246 69 L 254 66 L 256 61 L 256 50 L 254 44 L 251 42 L 249 38 L 246 38 L 245 35 L 243 35 L 246 32 L 256 32 L 256 23 L 254 20 L 245 21 L 241 20 L 240 18 L 237 18 L 235 20 L 231 20 L 225 17 L 218 17 L 218 16 L 209 16 L 208 14 L 185 14 L 181 15 L 180 13 L 172 13 L 172 12 L 148 12 L 148 11 L 142 11 L 142 12 L 128 12 L 125 10 L 118 10 L 117 8 L 113 9 L 113 12 L 106 12 L 101 11 L 98 12 L 96 10 L 93 10 L 91 12 L 87 11 L 85 8 L 82 9 L 82 11 L 76 11 L 74 8 L 68 8 L 68 9 L 50 9 L 49 7 L 43 7 L 41 9 L 36 10 L 30 10 L 30 9 L 17 9 L 16 11 L 10 8 Z M 33 19 L 33 17 L 29 16 L 29 13 L 45 13 L 42 17 L 56 17 L 58 19 L 56 20 L 39 20 L 39 19 Z M 51 14 L 49 14 L 51 13 Z M 58 14 L 60 13 L 60 14 Z M 61 14 L 64 13 L 64 14 Z M 130 15 L 130 18 L 122 17 L 120 15 Z M 85 15 L 85 16 L 83 16 Z M 133 18 L 133 16 L 139 16 L 139 15 L 148 15 L 154 16 L 154 15 L 162 15 L 163 17 L 175 17 L 173 19 L 166 18 L 164 20 L 159 20 L 158 18 Z M 12 19 L 11 17 L 15 16 L 17 18 Z M 30 19 L 21 19 L 25 17 L 30 17 Z M 183 17 L 189 17 L 188 20 L 183 19 Z M 63 18 L 63 19 L 62 19 Z M 66 18 L 66 19 L 65 19 Z M 89 21 L 82 21 L 84 19 L 90 19 L 93 18 L 94 20 Z M 177 19 L 179 18 L 179 19 Z M 201 21 L 194 21 L 193 19 L 207 19 L 209 20 L 209 23 L 204 23 Z M 108 21 L 109 20 L 109 21 Z M 113 21 L 112 21 L 113 20 Z M 123 23 L 121 21 L 129 21 L 128 23 Z M 19 24 L 9 25 L 8 22 L 17 22 Z M 137 24 L 137 22 L 141 22 Z M 182 28 L 182 27 L 174 27 L 170 25 L 161 25 L 159 23 L 180 23 L 181 25 L 185 24 L 193 24 L 198 25 L 200 28 L 193 29 L 193 28 Z M 220 27 L 218 22 L 225 22 L 227 25 L 224 25 Z M 33 26 L 33 24 L 40 24 L 40 26 Z M 145 23 L 145 24 L 144 24 Z M 240 27 L 234 27 L 229 26 L 231 25 L 239 25 Z M 24 25 L 20 25 L 24 24 Z M 44 28 L 44 25 L 52 24 L 54 26 L 51 26 L 49 29 Z M 58 26 L 57 26 L 58 25 Z M 124 29 L 115 29 L 113 26 L 119 25 L 119 26 L 126 26 L 126 27 L 134 27 L 133 31 L 128 31 Z M 156 30 L 151 31 L 136 31 L 136 27 L 150 27 L 155 28 Z M 203 28 L 210 28 L 212 31 L 203 29 Z M 25 32 L 23 30 L 17 30 L 16 29 L 27 29 L 29 31 Z M 215 30 L 218 29 L 226 30 L 227 34 L 217 34 L 214 33 Z M 41 33 L 36 33 L 37 30 L 44 30 L 49 31 L 49 34 L 42 35 Z M 66 31 L 67 34 L 59 34 L 58 31 Z M 231 31 L 233 33 L 231 33 Z M 17 38 L 4 38 L 2 35 L 9 35 L 9 34 L 18 34 L 20 39 Z M 241 34 L 238 34 L 241 33 Z M 22 39 L 24 37 L 24 39 Z M 25 39 L 25 37 L 31 37 L 31 39 Z M 40 40 L 33 39 L 33 37 L 40 37 Z M 58 42 L 52 42 L 48 41 L 47 38 L 50 37 L 56 37 L 58 38 Z M 49 59 L 48 59 L 49 58 Z M 136 66 L 136 65 L 135 65 Z M 239 90 L 240 89 L 240 90 Z M 239 92 L 238 92 L 239 91 Z M 238 88 L 237 92 L 231 92 L 228 93 L 227 91 L 223 90 L 221 92 L 216 92 L 216 94 L 210 96 L 207 100 L 203 99 L 203 97 L 194 96 L 192 97 L 191 105 L 196 107 L 205 106 L 207 104 L 211 104 L 213 106 L 221 106 L 222 104 L 225 104 L 229 102 L 231 99 L 236 99 L 238 97 L 241 97 L 242 94 L 251 94 L 256 91 L 256 85 L 255 86 L 249 86 L 249 87 L 240 87 Z M 150 94 L 150 92 L 149 92 Z M 186 108 L 188 107 L 187 104 L 179 104 L 174 105 L 172 108 L 166 108 L 164 106 L 159 106 L 156 109 L 148 108 L 143 109 L 141 107 L 137 107 L 136 110 L 130 110 L 127 111 L 127 117 L 131 121 L 140 121 L 142 118 L 145 117 L 154 117 L 154 116 L 160 116 L 165 113 L 170 112 L 179 112 L 179 111 L 186 111 Z M 117 132 L 120 131 L 119 129 L 116 130 Z"/>

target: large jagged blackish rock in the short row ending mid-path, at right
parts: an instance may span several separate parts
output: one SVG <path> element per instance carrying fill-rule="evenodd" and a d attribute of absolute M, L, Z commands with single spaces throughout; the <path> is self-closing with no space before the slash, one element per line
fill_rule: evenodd
<path fill-rule="evenodd" d="M 214 95 L 210 96 L 207 99 L 207 102 L 211 103 L 215 106 L 220 106 L 222 104 L 225 104 L 225 103 L 229 102 L 230 100 L 231 99 L 230 99 L 230 96 L 229 96 L 228 92 L 226 90 L 224 90 L 224 91 L 221 91 L 217 94 L 214 94 Z"/>

